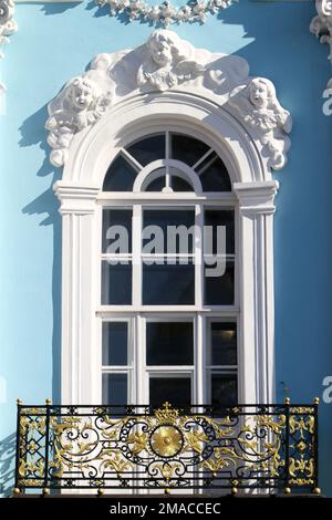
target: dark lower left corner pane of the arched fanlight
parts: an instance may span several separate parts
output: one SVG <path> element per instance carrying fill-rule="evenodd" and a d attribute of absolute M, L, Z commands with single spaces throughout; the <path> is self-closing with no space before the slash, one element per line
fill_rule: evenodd
<path fill-rule="evenodd" d="M 137 171 L 120 155 L 107 169 L 103 191 L 132 191 Z"/>

